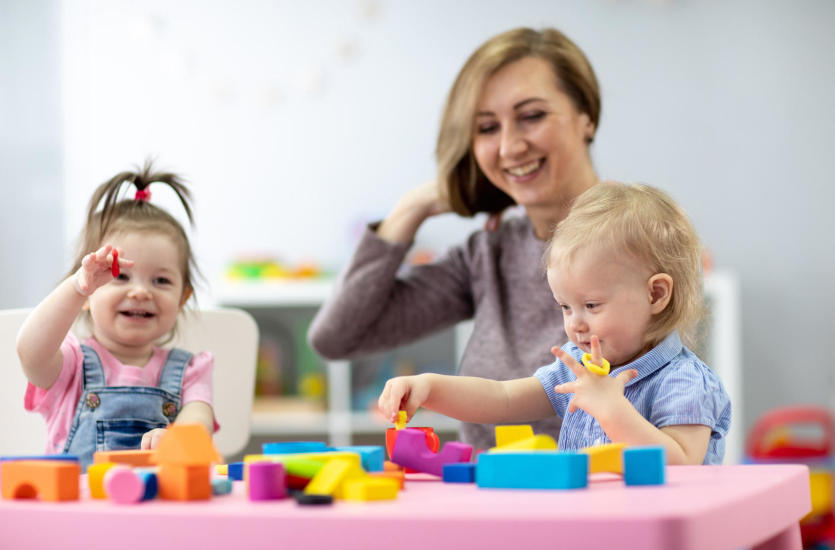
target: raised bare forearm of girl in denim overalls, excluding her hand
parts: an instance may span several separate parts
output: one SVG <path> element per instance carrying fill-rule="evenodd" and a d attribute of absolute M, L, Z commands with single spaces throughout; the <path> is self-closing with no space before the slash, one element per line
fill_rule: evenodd
<path fill-rule="evenodd" d="M 61 342 L 86 300 L 70 277 L 26 317 L 17 335 L 17 354 L 32 385 L 46 390 L 58 379 L 63 360 Z"/>

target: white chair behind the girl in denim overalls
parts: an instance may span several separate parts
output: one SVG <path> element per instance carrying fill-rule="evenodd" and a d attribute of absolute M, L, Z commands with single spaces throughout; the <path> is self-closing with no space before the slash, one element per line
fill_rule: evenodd
<path fill-rule="evenodd" d="M 46 426 L 40 415 L 23 409 L 26 377 L 17 358 L 15 340 L 28 309 L 0 310 L 0 456 L 42 454 Z M 239 453 L 249 441 L 258 327 L 239 309 L 205 309 L 180 319 L 173 346 L 192 352 L 211 351 L 215 358 L 212 383 L 214 410 L 220 430 L 214 441 L 220 454 Z"/>

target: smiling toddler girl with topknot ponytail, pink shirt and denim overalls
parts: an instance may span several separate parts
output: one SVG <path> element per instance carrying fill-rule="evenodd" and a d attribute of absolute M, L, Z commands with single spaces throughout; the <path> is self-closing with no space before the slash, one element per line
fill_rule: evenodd
<path fill-rule="evenodd" d="M 85 468 L 95 451 L 155 447 L 171 422 L 216 427 L 211 354 L 158 347 L 192 295 L 195 266 L 183 227 L 151 204 L 151 183 L 168 185 L 193 223 L 176 175 L 150 163 L 117 174 L 90 200 L 70 274 L 18 334 L 24 406 L 46 419 L 47 453 L 77 455 Z M 123 186 L 134 196 L 120 200 Z M 79 341 L 70 329 L 82 311 L 91 336 Z"/>

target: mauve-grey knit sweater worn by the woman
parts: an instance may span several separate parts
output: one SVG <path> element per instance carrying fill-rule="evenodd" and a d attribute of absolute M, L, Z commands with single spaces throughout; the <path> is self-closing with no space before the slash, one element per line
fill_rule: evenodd
<path fill-rule="evenodd" d="M 526 217 L 476 231 L 434 263 L 401 269 L 409 246 L 366 230 L 310 327 L 313 349 L 356 358 L 473 319 L 459 374 L 508 380 L 554 361 L 551 346 L 567 340 L 562 312 L 545 279 L 545 243 Z M 535 433 L 559 435 L 556 416 L 532 424 Z M 463 424 L 461 438 L 476 448 L 495 445 L 493 426 Z"/>

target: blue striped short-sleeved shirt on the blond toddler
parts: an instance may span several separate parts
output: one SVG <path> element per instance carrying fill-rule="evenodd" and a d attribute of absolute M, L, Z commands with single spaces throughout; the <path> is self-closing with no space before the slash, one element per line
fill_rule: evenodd
<path fill-rule="evenodd" d="M 562 347 L 580 362 L 583 351 L 572 342 Z M 721 464 L 725 454 L 725 436 L 731 425 L 731 400 L 719 376 L 695 353 L 681 343 L 673 331 L 657 346 L 629 364 L 613 368 L 609 376 L 635 369 L 638 376 L 629 381 L 624 395 L 653 426 L 702 424 L 710 427 L 710 443 L 704 464 Z M 559 448 L 576 450 L 609 443 L 600 424 L 585 411 L 566 413 L 573 394 L 561 394 L 554 386 L 576 379 L 574 373 L 557 359 L 534 373 L 557 415 L 562 417 Z"/>

